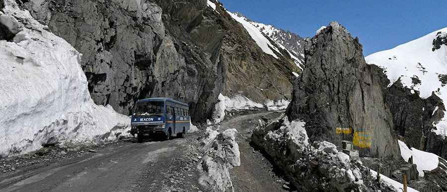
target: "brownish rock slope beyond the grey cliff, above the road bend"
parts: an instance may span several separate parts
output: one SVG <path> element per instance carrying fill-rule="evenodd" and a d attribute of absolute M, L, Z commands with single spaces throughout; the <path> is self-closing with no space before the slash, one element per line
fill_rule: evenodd
<path fill-rule="evenodd" d="M 292 71 L 299 69 L 287 51 L 278 48 L 282 52 L 277 54 L 280 59 L 265 54 L 226 11 L 220 13 L 222 26 L 227 30 L 218 58 L 218 63 L 225 66 L 223 94 L 242 94 L 258 103 L 265 99 L 290 100 L 295 78 Z"/>

